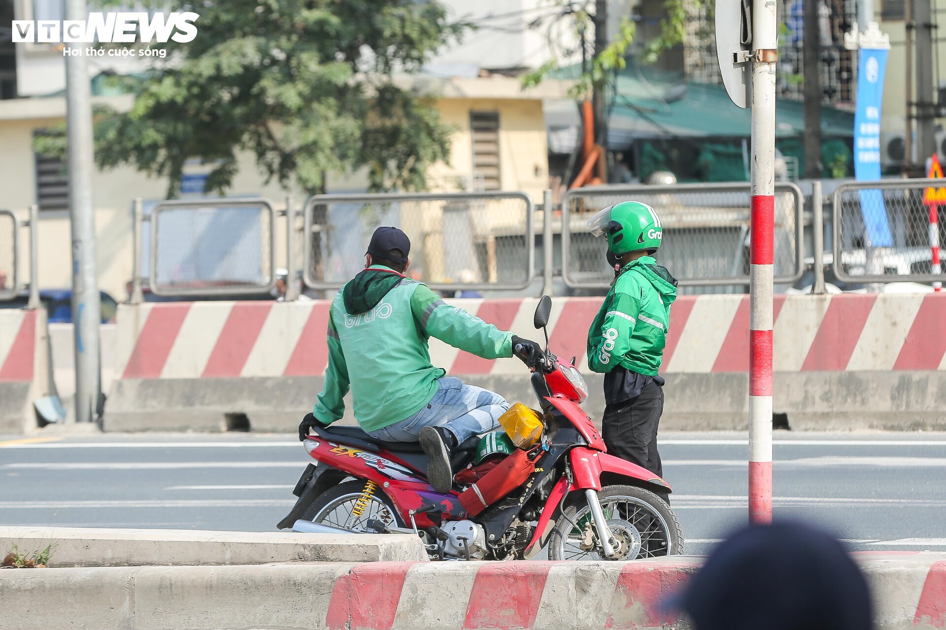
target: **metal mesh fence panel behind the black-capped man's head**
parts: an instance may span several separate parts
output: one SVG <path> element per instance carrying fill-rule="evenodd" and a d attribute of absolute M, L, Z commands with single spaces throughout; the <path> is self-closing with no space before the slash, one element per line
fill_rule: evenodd
<path fill-rule="evenodd" d="M 432 288 L 518 289 L 534 275 L 534 207 L 521 193 L 323 195 L 310 197 L 305 213 L 312 288 L 354 277 L 378 226 L 407 233 L 407 275 Z"/>

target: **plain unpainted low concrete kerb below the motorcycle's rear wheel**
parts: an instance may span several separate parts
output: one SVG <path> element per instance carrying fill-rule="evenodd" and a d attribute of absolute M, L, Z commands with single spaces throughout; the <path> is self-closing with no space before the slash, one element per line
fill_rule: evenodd
<path fill-rule="evenodd" d="M 416 536 L 0 526 L 0 551 L 54 544 L 51 567 L 427 560 Z"/>

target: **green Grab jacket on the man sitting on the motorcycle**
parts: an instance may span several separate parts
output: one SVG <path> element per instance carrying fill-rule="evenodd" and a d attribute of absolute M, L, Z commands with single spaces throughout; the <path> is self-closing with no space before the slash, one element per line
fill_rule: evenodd
<path fill-rule="evenodd" d="M 431 336 L 485 359 L 513 356 L 512 332 L 447 304 L 426 284 L 381 265 L 360 272 L 332 300 L 328 366 L 312 415 L 324 425 L 341 418 L 349 388 L 365 431 L 416 414 L 446 374 L 430 363 Z"/>

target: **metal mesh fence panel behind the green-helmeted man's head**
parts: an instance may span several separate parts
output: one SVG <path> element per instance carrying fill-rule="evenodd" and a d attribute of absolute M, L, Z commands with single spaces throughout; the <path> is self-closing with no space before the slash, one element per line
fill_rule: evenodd
<path fill-rule="evenodd" d="M 663 224 L 657 262 L 687 285 L 738 285 L 749 281 L 749 184 L 601 186 L 569 191 L 563 208 L 563 275 L 577 288 L 601 288 L 613 279 L 606 245 L 587 230 L 594 213 L 634 199 L 654 207 Z M 779 183 L 775 196 L 775 277 L 801 276 L 801 191 Z M 704 291 L 706 292 L 706 291 Z"/>

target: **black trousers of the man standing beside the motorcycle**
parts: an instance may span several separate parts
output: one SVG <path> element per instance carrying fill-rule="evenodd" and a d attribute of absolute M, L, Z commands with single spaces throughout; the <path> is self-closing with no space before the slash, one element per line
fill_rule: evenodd
<path fill-rule="evenodd" d="M 604 408 L 604 445 L 608 453 L 663 477 L 657 452 L 657 425 L 663 414 L 663 387 L 648 383 L 637 398 Z"/>

